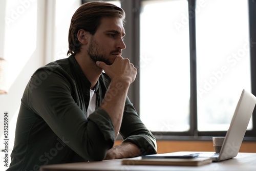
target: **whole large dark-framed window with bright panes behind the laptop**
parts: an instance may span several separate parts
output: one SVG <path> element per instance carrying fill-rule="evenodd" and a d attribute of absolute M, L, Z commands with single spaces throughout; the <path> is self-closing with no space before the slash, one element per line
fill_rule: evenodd
<path fill-rule="evenodd" d="M 256 94 L 254 1 L 119 2 L 123 57 L 138 68 L 129 96 L 146 126 L 156 136 L 224 136 L 242 89 Z"/>

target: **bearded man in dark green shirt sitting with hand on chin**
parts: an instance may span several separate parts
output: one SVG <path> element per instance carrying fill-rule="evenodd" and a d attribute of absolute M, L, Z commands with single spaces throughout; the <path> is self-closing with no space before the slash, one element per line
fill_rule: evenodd
<path fill-rule="evenodd" d="M 39 68 L 25 89 L 8 170 L 156 154 L 155 137 L 127 97 L 137 70 L 121 57 L 124 17 L 104 2 L 77 9 L 70 56 Z M 118 133 L 123 142 L 113 147 Z"/>

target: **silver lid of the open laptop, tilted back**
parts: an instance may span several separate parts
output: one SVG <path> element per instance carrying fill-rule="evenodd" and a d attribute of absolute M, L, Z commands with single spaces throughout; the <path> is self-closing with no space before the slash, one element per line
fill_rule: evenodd
<path fill-rule="evenodd" d="M 255 104 L 256 97 L 243 90 L 223 142 L 219 161 L 237 156 Z"/>

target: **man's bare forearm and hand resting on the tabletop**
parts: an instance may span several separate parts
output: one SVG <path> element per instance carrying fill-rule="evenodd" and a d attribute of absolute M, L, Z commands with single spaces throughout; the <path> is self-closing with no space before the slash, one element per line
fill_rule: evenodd
<path fill-rule="evenodd" d="M 131 158 L 137 156 L 140 156 L 139 147 L 131 142 L 123 142 L 120 145 L 116 145 L 109 149 L 109 151 L 106 153 L 105 160 Z"/>

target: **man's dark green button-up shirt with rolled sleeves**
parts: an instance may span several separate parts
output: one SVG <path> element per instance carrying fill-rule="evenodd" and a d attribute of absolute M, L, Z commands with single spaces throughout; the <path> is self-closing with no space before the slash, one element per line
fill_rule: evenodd
<path fill-rule="evenodd" d="M 87 117 L 91 83 L 74 56 L 39 68 L 22 97 L 8 170 L 103 160 L 115 142 L 111 118 L 99 108 L 110 81 L 101 74 L 95 86 L 97 108 Z M 139 146 L 142 155 L 156 154 L 156 139 L 128 97 L 119 133 L 124 141 Z"/>

